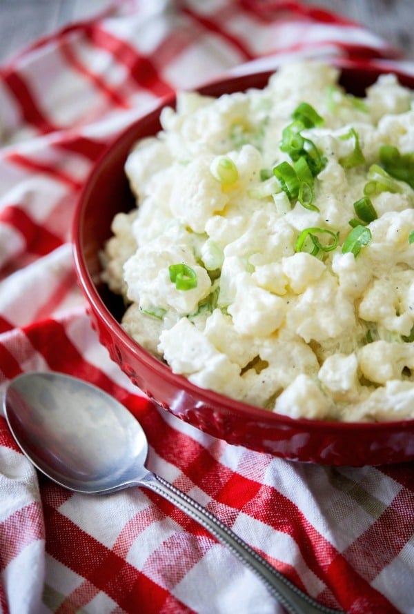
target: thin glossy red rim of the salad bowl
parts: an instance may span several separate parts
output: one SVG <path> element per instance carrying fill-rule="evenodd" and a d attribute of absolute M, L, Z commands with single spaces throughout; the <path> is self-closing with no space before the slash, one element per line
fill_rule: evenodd
<path fill-rule="evenodd" d="M 330 63 L 335 68 L 339 70 L 356 70 L 358 72 L 366 72 L 366 70 L 371 70 L 373 74 L 381 75 L 393 73 L 397 77 L 402 77 L 403 79 L 411 80 L 414 88 L 414 75 L 410 73 L 404 72 L 404 70 L 397 70 L 397 68 L 387 67 L 384 65 L 377 65 L 376 63 L 372 63 L 371 61 L 366 60 L 351 60 L 346 58 L 333 58 L 333 59 L 322 59 L 324 63 Z M 277 70 L 277 67 L 275 68 Z M 248 74 L 242 75 L 220 75 L 219 77 L 208 81 L 207 83 L 202 84 L 199 87 L 192 88 L 193 91 L 197 91 L 200 93 L 208 92 L 210 88 L 214 88 L 222 85 L 224 82 L 230 81 L 231 83 L 237 82 L 246 82 L 246 79 L 266 79 L 272 75 L 275 70 L 259 70 L 256 72 L 251 72 Z M 244 87 L 244 89 L 247 89 Z M 163 99 L 160 99 L 157 104 L 150 109 L 148 112 L 145 112 L 144 115 L 137 117 L 137 119 L 132 120 L 128 123 L 127 126 L 121 129 L 121 132 L 108 143 L 108 145 L 103 149 L 100 155 L 97 157 L 95 162 L 93 163 L 92 169 L 88 173 L 85 181 L 83 182 L 83 186 L 79 192 L 77 197 L 77 202 L 75 205 L 74 217 L 72 220 L 72 254 L 75 260 L 75 270 L 77 272 L 77 277 L 81 289 L 83 290 L 84 295 L 86 295 L 87 302 L 90 306 L 95 310 L 95 313 L 99 313 L 99 317 L 103 320 L 104 324 L 109 327 L 119 342 L 128 347 L 128 350 L 133 355 L 136 355 L 137 358 L 147 364 L 149 368 L 152 370 L 157 370 L 161 372 L 170 384 L 177 387 L 179 390 L 184 390 L 191 397 L 197 398 L 200 402 L 204 404 L 208 404 L 209 406 L 219 406 L 226 411 L 230 411 L 237 415 L 243 415 L 249 419 L 262 419 L 266 422 L 267 426 L 271 428 L 272 424 L 275 424 L 278 428 L 290 428 L 295 426 L 295 428 L 303 428 L 306 431 L 320 431 L 323 428 L 324 433 L 330 434 L 338 434 L 344 431 L 360 433 L 361 431 L 368 430 L 378 430 L 384 431 L 388 430 L 393 433 L 395 430 L 401 431 L 404 426 L 413 427 L 414 425 L 414 417 L 413 418 L 403 418 L 403 419 L 392 419 L 392 420 L 382 420 L 382 421 L 371 421 L 371 422 L 355 422 L 355 421 L 339 421 L 333 419 L 316 419 L 316 418 L 306 418 L 306 417 L 290 417 L 288 415 L 284 415 L 281 413 L 277 413 L 273 410 L 266 410 L 259 406 L 250 405 L 243 401 L 239 401 L 232 397 L 227 397 L 226 395 L 221 395 L 220 393 L 215 392 L 215 390 L 211 390 L 208 388 L 201 388 L 193 382 L 185 377 L 184 375 L 179 375 L 177 373 L 173 373 L 170 366 L 168 364 L 161 362 L 160 359 L 153 356 L 148 350 L 144 347 L 140 346 L 137 341 L 132 339 L 126 330 L 122 328 L 121 324 L 114 315 L 110 312 L 109 308 L 106 306 L 105 302 L 99 295 L 97 290 L 97 286 L 95 281 L 93 281 L 90 272 L 88 270 L 88 266 L 86 264 L 86 258 L 83 254 L 82 248 L 82 230 L 83 230 L 83 221 L 85 215 L 85 206 L 88 202 L 88 194 L 92 190 L 97 177 L 101 172 L 101 166 L 106 162 L 108 157 L 112 155 L 112 152 L 118 148 L 122 148 L 124 146 L 124 141 L 129 141 L 130 139 L 130 131 L 136 130 L 141 123 L 148 120 L 149 117 L 158 117 L 159 113 L 165 106 L 174 106 L 176 102 L 177 96 L 175 94 L 168 95 Z M 138 139 L 137 139 L 138 140 Z M 139 388 L 137 386 L 137 388 Z M 141 390 L 141 388 L 139 388 Z M 145 394 L 145 393 L 144 393 Z M 154 399 L 157 402 L 156 399 Z M 157 404 L 161 404 L 157 402 Z"/>

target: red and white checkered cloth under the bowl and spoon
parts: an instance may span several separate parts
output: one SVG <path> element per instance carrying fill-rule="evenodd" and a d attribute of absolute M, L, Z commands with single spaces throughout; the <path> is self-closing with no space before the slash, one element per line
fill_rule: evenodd
<path fill-rule="evenodd" d="M 99 345 L 77 289 L 72 215 L 110 139 L 175 88 L 298 54 L 413 72 L 357 24 L 270 0 L 119 2 L 0 67 L 0 386 L 28 370 L 94 382 L 139 417 L 148 467 L 295 584 L 351 613 L 413 613 L 412 465 L 294 464 L 158 412 Z M 82 496 L 37 475 L 0 416 L 0 613 L 50 612 L 270 614 L 279 606 L 156 495 Z"/>

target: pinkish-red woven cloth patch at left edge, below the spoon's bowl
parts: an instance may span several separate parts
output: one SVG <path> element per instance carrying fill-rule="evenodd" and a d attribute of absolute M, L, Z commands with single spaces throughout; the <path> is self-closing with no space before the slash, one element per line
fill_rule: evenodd
<path fill-rule="evenodd" d="M 34 501 L 0 522 L 0 571 L 28 544 L 45 536 L 41 504 Z"/>

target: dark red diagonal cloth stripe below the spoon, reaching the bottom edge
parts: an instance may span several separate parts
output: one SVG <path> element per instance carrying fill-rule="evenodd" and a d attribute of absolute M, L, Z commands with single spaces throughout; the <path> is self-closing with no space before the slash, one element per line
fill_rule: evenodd
<path fill-rule="evenodd" d="M 46 551 L 128 613 L 192 612 L 144 573 L 43 502 Z"/>

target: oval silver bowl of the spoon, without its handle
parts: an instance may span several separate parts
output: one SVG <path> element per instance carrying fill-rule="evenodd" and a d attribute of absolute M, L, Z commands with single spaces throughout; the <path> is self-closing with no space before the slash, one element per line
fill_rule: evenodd
<path fill-rule="evenodd" d="M 139 422 L 116 399 L 80 379 L 21 375 L 8 388 L 5 413 L 34 466 L 72 491 L 112 492 L 146 473 L 148 443 Z"/>

